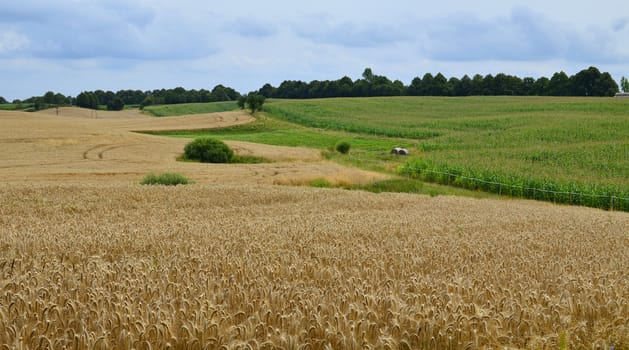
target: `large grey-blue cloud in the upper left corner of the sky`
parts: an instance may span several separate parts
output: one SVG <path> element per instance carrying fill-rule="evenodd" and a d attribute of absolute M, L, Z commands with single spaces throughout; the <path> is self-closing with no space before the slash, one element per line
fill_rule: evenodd
<path fill-rule="evenodd" d="M 205 23 L 178 14 L 159 16 L 140 2 L 26 0 L 3 10 L 2 24 L 28 39 L 29 45 L 13 54 L 30 57 L 159 60 L 216 51 Z"/>

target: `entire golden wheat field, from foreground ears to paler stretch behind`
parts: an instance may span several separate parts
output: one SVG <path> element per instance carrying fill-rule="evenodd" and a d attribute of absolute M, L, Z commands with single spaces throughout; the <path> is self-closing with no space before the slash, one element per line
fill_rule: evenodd
<path fill-rule="evenodd" d="M 277 186 L 327 163 L 200 168 L 42 118 L 0 114 L 0 348 L 629 348 L 627 213 Z"/>

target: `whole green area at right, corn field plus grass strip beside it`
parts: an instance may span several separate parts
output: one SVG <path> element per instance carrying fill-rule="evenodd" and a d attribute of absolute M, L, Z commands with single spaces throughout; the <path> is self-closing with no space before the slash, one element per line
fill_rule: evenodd
<path fill-rule="evenodd" d="M 331 159 L 427 181 L 607 208 L 629 197 L 629 101 L 557 97 L 387 97 L 269 100 L 248 126 L 211 131 L 225 140 L 333 149 L 350 141 L 349 157 Z M 204 132 L 205 133 L 205 132 Z M 180 135 L 191 137 L 194 135 Z M 391 156 L 391 147 L 411 156 Z M 521 188 L 465 182 L 436 172 Z M 588 202 L 540 190 L 610 196 Z M 518 192 L 519 191 L 519 192 Z M 543 194 L 543 195 L 540 195 Z M 594 198 L 593 197 L 593 198 Z M 598 198 L 598 197 L 596 197 Z M 611 199 L 613 201 L 613 199 Z M 616 209 L 619 200 L 612 203 Z M 629 202 L 625 204 L 629 207 Z"/>

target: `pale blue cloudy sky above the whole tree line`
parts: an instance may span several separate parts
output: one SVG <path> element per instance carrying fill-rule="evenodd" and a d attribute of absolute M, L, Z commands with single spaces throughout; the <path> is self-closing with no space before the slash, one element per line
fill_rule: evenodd
<path fill-rule="evenodd" d="M 629 76 L 629 1 L 20 0 L 0 6 L 0 96 L 424 73 Z"/>

